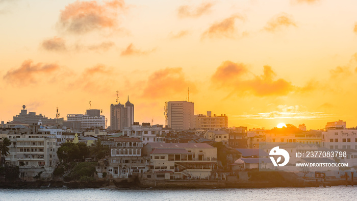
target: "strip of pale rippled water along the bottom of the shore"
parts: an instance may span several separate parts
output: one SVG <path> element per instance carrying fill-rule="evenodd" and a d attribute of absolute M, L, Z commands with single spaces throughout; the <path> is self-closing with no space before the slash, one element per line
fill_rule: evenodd
<path fill-rule="evenodd" d="M 0 200 L 357 200 L 357 187 L 261 189 L 0 189 Z"/>

